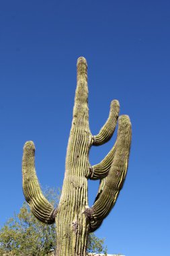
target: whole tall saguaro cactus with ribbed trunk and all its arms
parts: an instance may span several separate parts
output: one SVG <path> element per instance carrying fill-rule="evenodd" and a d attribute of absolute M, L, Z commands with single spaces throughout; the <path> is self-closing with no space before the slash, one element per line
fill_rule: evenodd
<path fill-rule="evenodd" d="M 87 62 L 77 60 L 77 89 L 73 121 L 67 147 L 65 179 L 57 209 L 42 194 L 34 164 L 35 147 L 32 141 L 24 146 L 22 162 L 23 190 L 32 213 L 46 224 L 56 223 L 56 256 L 85 256 L 87 238 L 108 216 L 122 189 L 131 143 L 131 123 L 127 115 L 118 119 L 120 105 L 113 100 L 110 115 L 97 135 L 89 129 Z M 107 156 L 91 166 L 89 150 L 107 142 L 118 120 L 116 143 Z M 92 207 L 88 206 L 87 181 L 100 180 L 99 191 Z"/>

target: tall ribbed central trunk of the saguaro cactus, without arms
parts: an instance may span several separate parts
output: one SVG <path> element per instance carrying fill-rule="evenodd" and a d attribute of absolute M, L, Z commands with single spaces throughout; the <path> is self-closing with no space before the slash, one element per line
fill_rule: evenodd
<path fill-rule="evenodd" d="M 77 63 L 77 90 L 73 122 L 67 148 L 65 179 L 56 215 L 56 255 L 85 255 L 89 223 L 83 214 L 89 174 L 89 110 L 87 65 Z M 81 64 L 81 65 L 80 65 Z"/>

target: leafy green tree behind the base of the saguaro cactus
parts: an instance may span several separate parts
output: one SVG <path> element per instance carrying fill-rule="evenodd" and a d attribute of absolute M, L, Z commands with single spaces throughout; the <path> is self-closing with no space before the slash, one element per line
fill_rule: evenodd
<path fill-rule="evenodd" d="M 58 202 L 59 195 L 54 189 L 44 193 L 48 200 L 54 204 Z M 88 252 L 101 253 L 104 239 L 90 234 Z M 46 225 L 39 222 L 30 212 L 26 202 L 22 205 L 19 214 L 14 214 L 0 230 L 0 255 L 42 256 L 54 251 L 56 247 L 55 224 Z"/>

